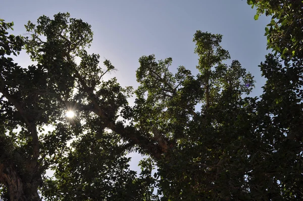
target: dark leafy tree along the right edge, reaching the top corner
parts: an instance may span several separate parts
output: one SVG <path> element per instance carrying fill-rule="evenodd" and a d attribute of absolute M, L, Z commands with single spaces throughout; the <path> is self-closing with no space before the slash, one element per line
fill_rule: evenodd
<path fill-rule="evenodd" d="M 255 19 L 272 16 L 265 28 L 268 48 L 260 67 L 267 78 L 259 102 L 259 131 L 267 141 L 265 178 L 273 199 L 302 199 L 302 6 L 301 1 L 247 1 L 257 7 Z M 265 147 L 265 146 L 264 146 Z M 261 178 L 260 178 L 261 180 Z M 263 178 L 264 180 L 264 178 Z"/>

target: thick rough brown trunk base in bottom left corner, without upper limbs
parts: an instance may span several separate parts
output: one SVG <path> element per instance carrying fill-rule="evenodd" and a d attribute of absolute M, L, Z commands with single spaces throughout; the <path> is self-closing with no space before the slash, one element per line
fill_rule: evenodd
<path fill-rule="evenodd" d="M 30 178 L 27 175 L 26 178 Z M 34 177 L 33 177 L 34 178 Z M 40 201 L 38 194 L 38 181 L 30 179 L 24 182 L 13 166 L 0 164 L 0 183 L 7 188 L 10 201 Z"/>

